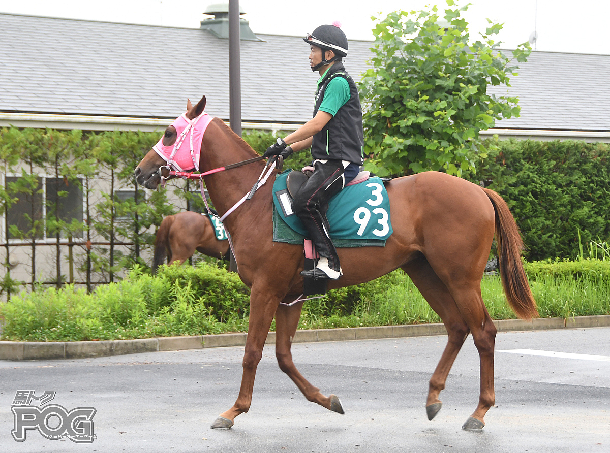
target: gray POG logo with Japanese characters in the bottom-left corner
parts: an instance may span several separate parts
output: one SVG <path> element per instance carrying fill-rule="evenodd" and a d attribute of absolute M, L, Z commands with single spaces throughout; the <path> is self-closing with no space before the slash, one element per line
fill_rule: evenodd
<path fill-rule="evenodd" d="M 93 443 L 96 438 L 93 432 L 95 407 L 77 407 L 68 411 L 59 404 L 47 404 L 55 398 L 55 393 L 51 390 L 45 390 L 40 396 L 36 396 L 35 390 L 15 393 L 10 408 L 15 415 L 15 429 L 10 432 L 13 439 L 23 442 L 27 430 L 37 429 L 49 440 L 68 438 L 76 443 Z"/>

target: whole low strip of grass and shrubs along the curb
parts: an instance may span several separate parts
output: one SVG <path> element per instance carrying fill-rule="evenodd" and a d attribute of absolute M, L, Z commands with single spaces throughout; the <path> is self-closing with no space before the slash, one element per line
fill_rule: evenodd
<path fill-rule="evenodd" d="M 540 316 L 610 315 L 610 261 L 546 261 L 525 268 Z M 248 293 L 236 274 L 213 263 L 163 266 L 157 276 L 135 268 L 125 280 L 91 294 L 66 286 L 13 296 L 0 304 L 1 338 L 116 340 L 245 332 Z M 493 319 L 515 318 L 499 277 L 485 277 L 481 293 Z M 306 302 L 299 328 L 439 322 L 411 279 L 395 271 Z"/>

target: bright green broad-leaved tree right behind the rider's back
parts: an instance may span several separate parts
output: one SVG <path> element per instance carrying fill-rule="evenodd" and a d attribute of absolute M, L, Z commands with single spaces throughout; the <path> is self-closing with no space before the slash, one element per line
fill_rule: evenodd
<path fill-rule="evenodd" d="M 453 0 L 444 20 L 431 11 L 397 11 L 373 29 L 375 56 L 360 84 L 367 166 L 379 176 L 443 170 L 461 175 L 474 169 L 486 147 L 479 131 L 501 118 L 519 116 L 517 98 L 487 93 L 489 85 L 509 85 L 509 75 L 525 62 L 523 43 L 512 59 L 498 49 L 490 26 L 470 43 L 466 21 Z"/>

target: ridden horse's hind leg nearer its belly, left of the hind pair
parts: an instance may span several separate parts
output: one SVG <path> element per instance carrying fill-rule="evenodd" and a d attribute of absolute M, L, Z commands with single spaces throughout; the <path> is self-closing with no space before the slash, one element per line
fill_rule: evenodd
<path fill-rule="evenodd" d="M 440 316 L 449 337 L 445 351 L 428 383 L 426 413 L 428 419 L 431 420 L 442 407 L 439 394 L 445 388 L 451 366 L 470 330 L 460 315 L 453 296 L 425 259 L 411 262 L 409 265 L 403 266 L 403 270 L 411 277 L 432 310 Z"/>

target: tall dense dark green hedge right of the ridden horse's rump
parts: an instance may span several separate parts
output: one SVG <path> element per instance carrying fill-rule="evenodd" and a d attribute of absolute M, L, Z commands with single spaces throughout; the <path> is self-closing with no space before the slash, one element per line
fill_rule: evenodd
<path fill-rule="evenodd" d="M 610 145 L 498 141 L 465 177 L 503 196 L 528 260 L 575 259 L 580 245 L 610 240 Z M 580 236 L 579 236 L 580 234 Z"/>

